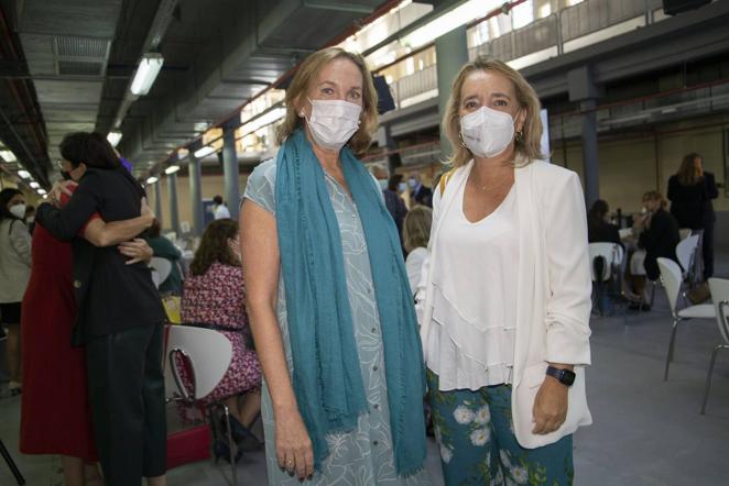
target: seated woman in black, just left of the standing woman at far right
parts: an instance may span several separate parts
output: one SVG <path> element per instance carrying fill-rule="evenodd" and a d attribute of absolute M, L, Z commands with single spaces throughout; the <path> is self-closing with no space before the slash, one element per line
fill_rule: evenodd
<path fill-rule="evenodd" d="M 676 245 L 681 241 L 678 222 L 666 210 L 666 201 L 660 192 L 651 190 L 643 196 L 643 205 L 648 212 L 635 221 L 634 228 L 640 231 L 638 245 L 645 250 L 645 274 L 651 280 L 661 276 L 659 257 L 676 257 Z"/>

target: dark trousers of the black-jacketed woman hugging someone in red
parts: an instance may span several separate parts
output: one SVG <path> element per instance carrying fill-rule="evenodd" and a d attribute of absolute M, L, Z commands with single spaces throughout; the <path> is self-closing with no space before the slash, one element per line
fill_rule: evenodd
<path fill-rule="evenodd" d="M 94 438 L 106 486 L 133 486 L 165 473 L 162 324 L 86 344 Z"/>

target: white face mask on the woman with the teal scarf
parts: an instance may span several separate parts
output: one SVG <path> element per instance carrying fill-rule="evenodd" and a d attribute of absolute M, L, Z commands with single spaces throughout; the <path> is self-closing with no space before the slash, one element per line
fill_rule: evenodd
<path fill-rule="evenodd" d="M 362 107 L 344 100 L 308 101 L 312 117 L 306 122 L 312 137 L 323 148 L 340 150 L 359 129 Z"/>

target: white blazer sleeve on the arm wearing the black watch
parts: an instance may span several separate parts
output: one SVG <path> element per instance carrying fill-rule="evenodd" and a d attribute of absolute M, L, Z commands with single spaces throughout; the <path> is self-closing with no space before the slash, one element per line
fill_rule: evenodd
<path fill-rule="evenodd" d="M 590 364 L 590 278 L 587 217 L 579 178 L 572 173 L 545 198 L 550 363 Z"/>

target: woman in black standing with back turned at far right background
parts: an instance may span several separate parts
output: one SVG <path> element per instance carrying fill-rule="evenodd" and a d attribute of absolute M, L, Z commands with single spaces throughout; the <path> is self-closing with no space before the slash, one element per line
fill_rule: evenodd
<path fill-rule="evenodd" d="M 678 172 L 668 178 L 671 214 L 681 228 L 703 230 L 704 279 L 714 275 L 714 224 L 711 199 L 719 197 L 714 174 L 705 172 L 703 158 L 692 153 L 684 157 Z"/>

